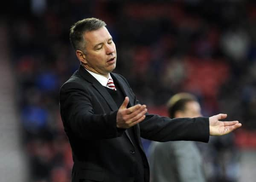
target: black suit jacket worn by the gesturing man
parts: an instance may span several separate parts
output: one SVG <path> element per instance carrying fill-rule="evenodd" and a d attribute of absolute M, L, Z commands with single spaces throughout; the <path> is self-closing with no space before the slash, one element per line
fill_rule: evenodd
<path fill-rule="evenodd" d="M 125 78 L 115 73 L 111 76 L 129 97 L 128 106 L 139 104 Z M 134 144 L 127 130 L 116 127 L 118 107 L 108 91 L 80 66 L 62 85 L 59 99 L 64 130 L 73 153 L 72 182 L 81 179 L 88 182 L 134 182 Z M 159 142 L 208 142 L 209 118 L 170 119 L 147 113 L 146 118 L 135 125 L 134 132 L 143 153 L 145 182 L 148 182 L 149 166 L 140 136 Z"/>

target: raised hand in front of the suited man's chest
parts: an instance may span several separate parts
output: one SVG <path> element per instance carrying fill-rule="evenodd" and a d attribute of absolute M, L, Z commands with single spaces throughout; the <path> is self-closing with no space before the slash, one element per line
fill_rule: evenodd
<path fill-rule="evenodd" d="M 137 104 L 127 108 L 129 98 L 125 97 L 116 115 L 116 127 L 129 128 L 145 119 L 145 113 L 148 111 L 146 105 Z"/>

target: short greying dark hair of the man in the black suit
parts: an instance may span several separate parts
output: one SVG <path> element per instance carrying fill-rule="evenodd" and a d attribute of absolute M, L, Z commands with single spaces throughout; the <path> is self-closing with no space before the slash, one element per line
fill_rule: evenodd
<path fill-rule="evenodd" d="M 73 48 L 76 50 L 82 50 L 85 48 L 86 42 L 84 41 L 84 32 L 98 30 L 107 24 L 97 18 L 85 18 L 77 21 L 70 28 L 70 42 Z"/>

